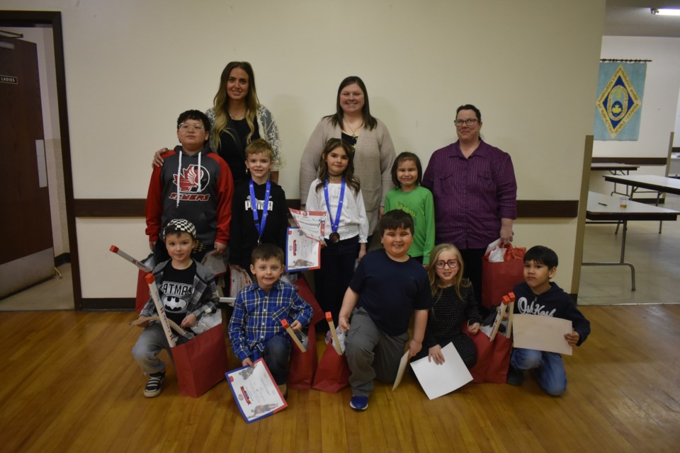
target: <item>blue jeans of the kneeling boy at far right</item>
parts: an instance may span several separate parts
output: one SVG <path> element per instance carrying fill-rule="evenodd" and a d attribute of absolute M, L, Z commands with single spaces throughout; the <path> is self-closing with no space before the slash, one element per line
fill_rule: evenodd
<path fill-rule="evenodd" d="M 562 396 L 567 389 L 565 365 L 556 352 L 516 348 L 510 356 L 510 365 L 521 370 L 536 369 L 536 381 L 549 395 Z"/>

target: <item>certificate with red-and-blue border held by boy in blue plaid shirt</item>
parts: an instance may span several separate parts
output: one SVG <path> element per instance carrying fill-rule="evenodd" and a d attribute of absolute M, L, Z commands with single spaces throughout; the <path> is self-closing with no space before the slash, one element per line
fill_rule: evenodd
<path fill-rule="evenodd" d="M 256 360 L 254 365 L 253 368 L 242 367 L 226 373 L 234 401 L 247 423 L 288 407 L 264 359 Z"/>

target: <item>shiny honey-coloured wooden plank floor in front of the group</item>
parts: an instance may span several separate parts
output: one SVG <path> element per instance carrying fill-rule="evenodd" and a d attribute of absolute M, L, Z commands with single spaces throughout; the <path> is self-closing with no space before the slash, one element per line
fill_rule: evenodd
<path fill-rule="evenodd" d="M 584 306 L 593 333 L 567 357 L 565 396 L 468 384 L 429 401 L 409 374 L 378 384 L 368 411 L 291 390 L 285 411 L 247 425 L 226 382 L 157 398 L 130 355 L 132 312 L 0 314 L 4 452 L 677 452 L 680 305 Z M 321 348 L 322 350 L 322 348 Z M 232 357 L 234 367 L 236 361 Z"/>

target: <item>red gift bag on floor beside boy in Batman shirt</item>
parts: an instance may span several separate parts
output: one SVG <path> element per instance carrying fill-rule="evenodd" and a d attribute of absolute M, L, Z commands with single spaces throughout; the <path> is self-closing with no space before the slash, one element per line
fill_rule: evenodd
<path fill-rule="evenodd" d="M 198 398 L 229 371 L 222 324 L 171 349 L 179 391 Z"/>

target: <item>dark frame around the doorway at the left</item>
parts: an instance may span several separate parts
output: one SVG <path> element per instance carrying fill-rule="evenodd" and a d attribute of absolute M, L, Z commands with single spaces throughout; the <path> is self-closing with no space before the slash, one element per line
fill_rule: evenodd
<path fill-rule="evenodd" d="M 57 78 L 57 111 L 62 144 L 62 166 L 64 171 L 64 194 L 66 197 L 67 233 L 69 236 L 69 256 L 71 258 L 73 304 L 75 310 L 83 309 L 78 260 L 78 238 L 74 215 L 73 174 L 71 171 L 71 139 L 69 136 L 69 115 L 66 100 L 66 71 L 64 69 L 64 35 L 62 13 L 60 11 L 0 11 L 0 26 L 35 27 L 51 25 L 55 43 L 55 70 Z"/>

